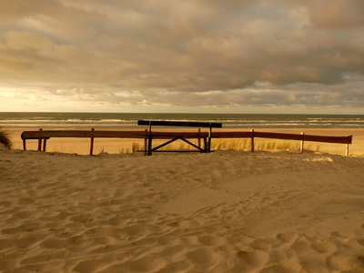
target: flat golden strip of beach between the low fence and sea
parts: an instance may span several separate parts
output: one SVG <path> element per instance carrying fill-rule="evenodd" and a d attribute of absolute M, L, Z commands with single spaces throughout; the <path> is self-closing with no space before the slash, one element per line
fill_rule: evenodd
<path fill-rule="evenodd" d="M 23 131 L 33 131 L 35 129 L 29 128 L 4 128 L 5 131 L 9 132 L 13 139 L 14 149 L 23 149 L 22 139 L 20 137 Z M 84 129 L 84 128 L 83 128 Z M 137 129 L 144 130 L 145 127 L 139 127 Z M 88 130 L 88 129 L 86 129 Z M 96 129 L 96 130 L 126 130 L 120 128 L 114 129 Z M 197 128 L 156 128 L 155 130 L 160 131 L 195 131 Z M 205 129 L 202 129 L 204 131 Z M 249 131 L 246 128 L 228 128 L 218 129 L 216 131 Z M 214 131 L 214 130 L 213 130 Z M 260 132 L 277 132 L 277 133 L 291 133 L 300 134 L 304 132 L 307 135 L 318 135 L 318 136 L 353 136 L 353 143 L 349 145 L 350 156 L 363 156 L 364 155 L 364 128 L 258 128 L 255 131 Z M 214 140 L 213 140 L 214 141 Z M 257 143 L 263 143 L 268 141 L 275 141 L 275 139 L 258 139 Z M 297 143 L 298 141 L 286 141 L 278 140 L 278 142 Z M 158 142 L 158 141 L 157 141 Z M 109 154 L 120 154 L 120 153 L 131 153 L 133 143 L 137 143 L 139 147 L 144 146 L 144 140 L 141 139 L 130 139 L 130 138 L 95 138 L 94 154 L 109 153 Z M 36 150 L 37 141 L 27 140 L 27 149 Z M 342 144 L 329 144 L 319 142 L 306 142 L 306 146 L 313 150 L 319 150 L 319 152 L 345 155 L 345 145 Z M 68 154 L 78 155 L 89 155 L 90 140 L 87 138 L 51 138 L 47 141 L 47 152 L 61 152 Z"/>

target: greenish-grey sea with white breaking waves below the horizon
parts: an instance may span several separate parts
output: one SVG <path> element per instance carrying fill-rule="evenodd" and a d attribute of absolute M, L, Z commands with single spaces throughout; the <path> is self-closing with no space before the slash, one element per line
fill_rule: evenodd
<path fill-rule="evenodd" d="M 139 119 L 219 122 L 223 128 L 364 128 L 364 115 L 0 112 L 3 128 L 140 128 Z"/>

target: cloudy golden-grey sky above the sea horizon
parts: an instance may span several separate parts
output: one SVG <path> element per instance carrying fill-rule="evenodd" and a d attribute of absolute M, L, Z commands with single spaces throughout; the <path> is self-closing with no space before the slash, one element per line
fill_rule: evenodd
<path fill-rule="evenodd" d="M 0 1 L 0 111 L 363 110 L 363 0 Z"/>

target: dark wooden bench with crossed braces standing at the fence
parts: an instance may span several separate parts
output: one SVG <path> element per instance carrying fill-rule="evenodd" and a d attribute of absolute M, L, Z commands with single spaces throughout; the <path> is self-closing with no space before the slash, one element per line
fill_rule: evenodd
<path fill-rule="evenodd" d="M 137 125 L 138 126 L 149 126 L 149 130 L 148 130 L 148 143 L 147 143 L 147 155 L 151 156 L 152 152 L 157 151 L 157 149 L 161 148 L 161 147 L 165 147 L 168 144 L 180 139 L 184 142 L 186 142 L 188 145 L 197 148 L 197 151 L 201 152 L 201 153 L 209 153 L 211 151 L 211 136 L 212 136 L 212 128 L 221 128 L 222 124 L 221 123 L 209 123 L 209 122 L 188 122 L 188 121 L 159 121 L 159 120 L 138 120 L 137 121 Z M 188 127 L 206 127 L 209 128 L 208 131 L 208 135 L 207 137 L 202 136 L 201 134 L 198 133 L 192 133 L 192 134 L 187 134 L 186 132 L 182 132 L 182 133 L 178 133 L 178 132 L 173 132 L 170 133 L 170 140 L 168 140 L 166 143 L 163 143 L 157 147 L 152 148 L 152 140 L 153 140 L 153 136 L 155 137 L 160 137 L 160 136 L 168 136 L 168 133 L 163 132 L 163 133 L 152 133 L 152 126 L 188 126 Z M 205 143 L 205 147 L 201 148 L 198 147 L 197 145 L 193 144 L 192 142 L 188 141 L 186 138 L 201 138 L 204 137 L 204 143 Z M 207 138 L 207 139 L 206 139 Z"/>

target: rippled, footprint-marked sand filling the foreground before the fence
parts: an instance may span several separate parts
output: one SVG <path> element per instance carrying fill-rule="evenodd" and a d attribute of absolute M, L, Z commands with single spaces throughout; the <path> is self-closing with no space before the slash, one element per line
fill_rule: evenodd
<path fill-rule="evenodd" d="M 0 149 L 0 271 L 364 272 L 363 130 L 319 130 L 354 135 L 357 156 L 91 157 L 15 139 Z"/>

